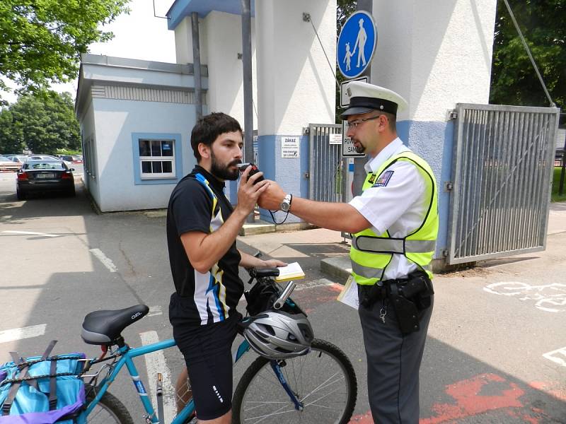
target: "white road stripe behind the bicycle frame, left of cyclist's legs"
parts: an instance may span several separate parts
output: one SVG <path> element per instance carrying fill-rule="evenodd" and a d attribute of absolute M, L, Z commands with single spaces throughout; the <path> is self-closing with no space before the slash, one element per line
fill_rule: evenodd
<path fill-rule="evenodd" d="M 159 341 L 156 331 L 146 331 L 145 333 L 140 333 L 139 336 L 141 337 L 141 344 L 144 346 Z M 165 413 L 165 420 L 161 420 L 161 422 L 171 423 L 175 417 L 177 407 L 175 406 L 175 387 L 173 387 L 171 382 L 171 371 L 165 362 L 165 355 L 163 355 L 163 351 L 156 351 L 144 355 L 144 358 L 146 360 L 147 384 L 151 394 L 151 404 L 154 405 L 154 409 L 157 411 L 157 373 L 161 372 L 163 376 L 163 413 Z"/>

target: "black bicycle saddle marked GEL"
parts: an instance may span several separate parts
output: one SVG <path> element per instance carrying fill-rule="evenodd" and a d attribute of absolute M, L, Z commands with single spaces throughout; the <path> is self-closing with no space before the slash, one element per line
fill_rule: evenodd
<path fill-rule="evenodd" d="M 110 344 L 120 338 L 123 329 L 145 317 L 148 312 L 146 305 L 91 312 L 84 317 L 81 337 L 88 344 Z"/>

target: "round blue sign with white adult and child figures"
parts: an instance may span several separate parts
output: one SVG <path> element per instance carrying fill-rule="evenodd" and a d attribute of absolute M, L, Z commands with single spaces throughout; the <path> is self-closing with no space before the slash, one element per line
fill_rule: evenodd
<path fill-rule="evenodd" d="M 336 45 L 338 68 L 346 78 L 356 78 L 371 63 L 377 45 L 374 18 L 357 11 L 346 20 Z"/>

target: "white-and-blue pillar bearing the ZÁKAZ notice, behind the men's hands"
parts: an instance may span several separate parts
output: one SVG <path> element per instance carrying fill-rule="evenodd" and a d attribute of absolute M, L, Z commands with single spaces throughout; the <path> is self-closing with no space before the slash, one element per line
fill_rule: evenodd
<path fill-rule="evenodd" d="M 309 13 L 333 68 L 336 61 L 335 0 L 255 2 L 258 64 L 258 165 L 266 177 L 289 193 L 308 196 L 310 123 L 335 122 L 335 80 Z M 282 144 L 299 140 L 299 157 L 284 158 Z M 291 147 L 289 151 L 293 151 Z M 261 218 L 271 221 L 267 211 Z M 277 214 L 277 220 L 284 213 Z M 287 222 L 299 220 L 289 215 Z"/>

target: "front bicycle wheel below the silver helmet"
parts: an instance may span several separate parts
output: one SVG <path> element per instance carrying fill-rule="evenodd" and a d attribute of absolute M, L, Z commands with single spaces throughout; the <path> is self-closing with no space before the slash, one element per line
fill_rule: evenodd
<path fill-rule="evenodd" d="M 315 339 L 306 355 L 278 362 L 303 410 L 296 410 L 270 360 L 260 357 L 244 372 L 234 392 L 234 424 L 348 423 L 357 382 L 352 363 L 340 348 Z"/>

